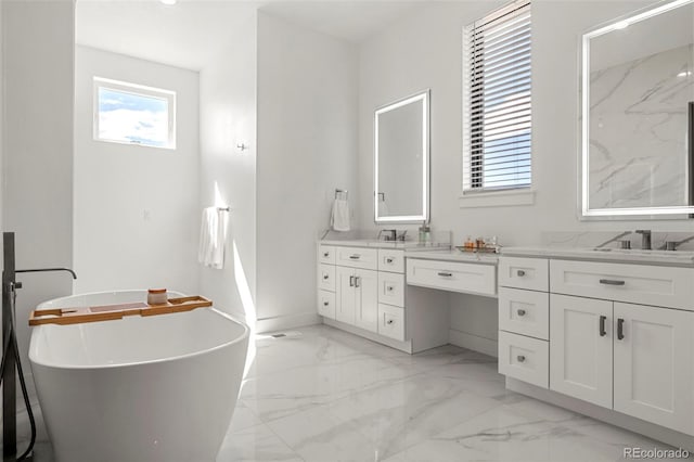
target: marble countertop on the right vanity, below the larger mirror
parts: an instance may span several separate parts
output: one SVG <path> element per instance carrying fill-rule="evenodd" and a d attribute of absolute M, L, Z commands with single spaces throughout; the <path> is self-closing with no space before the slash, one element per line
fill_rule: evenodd
<path fill-rule="evenodd" d="M 642 265 L 694 267 L 694 252 L 641 251 L 621 248 L 503 247 L 501 255 L 514 257 L 562 258 Z"/>

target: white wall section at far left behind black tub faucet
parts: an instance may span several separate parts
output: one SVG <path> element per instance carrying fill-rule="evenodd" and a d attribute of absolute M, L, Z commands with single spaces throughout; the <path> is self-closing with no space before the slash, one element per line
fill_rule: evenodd
<path fill-rule="evenodd" d="M 16 233 L 16 268 L 73 262 L 74 4 L 2 1 L 3 231 Z M 29 374 L 27 319 L 72 292 L 67 273 L 20 274 L 17 337 Z M 29 382 L 31 382 L 29 380 Z"/>

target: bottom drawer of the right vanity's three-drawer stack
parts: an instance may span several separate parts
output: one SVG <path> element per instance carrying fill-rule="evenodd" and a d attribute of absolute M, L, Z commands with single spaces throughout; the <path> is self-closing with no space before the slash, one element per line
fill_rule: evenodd
<path fill-rule="evenodd" d="M 550 383 L 549 342 L 499 332 L 499 373 L 542 388 Z"/>

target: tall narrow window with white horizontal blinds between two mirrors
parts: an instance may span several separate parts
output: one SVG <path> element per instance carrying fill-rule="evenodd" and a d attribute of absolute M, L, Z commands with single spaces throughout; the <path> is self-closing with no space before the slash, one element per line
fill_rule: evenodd
<path fill-rule="evenodd" d="M 463 29 L 463 192 L 531 181 L 530 2 Z"/>

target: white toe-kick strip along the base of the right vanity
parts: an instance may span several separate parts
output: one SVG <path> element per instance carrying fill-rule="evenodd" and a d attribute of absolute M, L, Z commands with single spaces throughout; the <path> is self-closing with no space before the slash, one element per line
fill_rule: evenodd
<path fill-rule="evenodd" d="M 539 399 L 540 401 L 560 406 L 570 411 L 578 412 L 579 414 L 606 422 L 611 425 L 627 428 L 628 431 L 666 442 L 676 448 L 682 448 L 690 452 L 694 452 L 694 438 L 683 433 L 665 428 L 660 425 L 642 421 L 641 419 L 632 418 L 630 415 L 613 411 L 612 409 L 606 409 L 570 396 L 562 395 L 561 393 L 552 392 L 551 389 L 540 388 L 515 378 L 506 377 L 506 388 L 512 392 Z"/>

